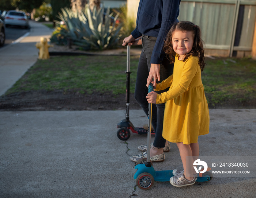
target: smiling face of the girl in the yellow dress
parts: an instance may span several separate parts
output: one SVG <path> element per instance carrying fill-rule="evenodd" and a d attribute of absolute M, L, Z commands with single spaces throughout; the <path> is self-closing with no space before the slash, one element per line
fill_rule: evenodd
<path fill-rule="evenodd" d="M 180 55 L 179 60 L 185 58 L 185 54 L 192 50 L 194 36 L 192 32 L 182 32 L 175 30 L 172 34 L 173 50 Z"/>

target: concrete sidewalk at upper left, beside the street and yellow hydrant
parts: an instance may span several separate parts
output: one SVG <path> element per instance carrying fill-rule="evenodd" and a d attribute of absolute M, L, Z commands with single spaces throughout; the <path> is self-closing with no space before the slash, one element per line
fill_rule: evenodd
<path fill-rule="evenodd" d="M 39 50 L 35 44 L 40 42 L 40 38 L 52 35 L 52 30 L 41 23 L 30 20 L 29 24 L 29 34 L 0 48 L 0 96 L 37 61 Z"/>

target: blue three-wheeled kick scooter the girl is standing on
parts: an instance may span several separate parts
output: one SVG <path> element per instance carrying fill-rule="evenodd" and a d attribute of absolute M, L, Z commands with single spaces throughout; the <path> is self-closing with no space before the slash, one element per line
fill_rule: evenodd
<path fill-rule="evenodd" d="M 153 84 L 148 86 L 148 93 L 154 91 Z M 147 148 L 150 148 L 151 141 L 151 116 L 152 116 L 152 104 L 148 104 L 148 132 L 147 132 Z M 147 149 L 147 158 L 139 159 L 136 162 L 135 169 L 138 169 L 133 176 L 136 179 L 136 185 L 142 190 L 151 189 L 155 181 L 168 182 L 173 175 L 172 170 L 155 171 L 153 163 L 150 161 L 150 149 Z M 207 170 L 210 170 L 208 168 Z M 212 173 L 209 171 L 203 174 L 197 174 L 196 182 L 207 182 L 212 179 Z"/>

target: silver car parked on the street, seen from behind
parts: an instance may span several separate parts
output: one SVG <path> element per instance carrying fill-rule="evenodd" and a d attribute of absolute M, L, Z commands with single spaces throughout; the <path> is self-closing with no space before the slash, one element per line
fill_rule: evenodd
<path fill-rule="evenodd" d="M 10 25 L 23 26 L 25 28 L 29 27 L 29 20 L 27 15 L 23 11 L 10 10 L 4 16 L 5 27 Z"/>

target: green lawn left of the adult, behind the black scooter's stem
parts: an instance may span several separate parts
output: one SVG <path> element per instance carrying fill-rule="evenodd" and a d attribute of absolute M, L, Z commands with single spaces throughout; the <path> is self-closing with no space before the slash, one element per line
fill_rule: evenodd
<path fill-rule="evenodd" d="M 131 57 L 131 92 L 134 92 L 139 57 Z M 38 60 L 7 94 L 28 90 L 75 90 L 80 93 L 124 93 L 125 56 L 63 56 Z"/>

